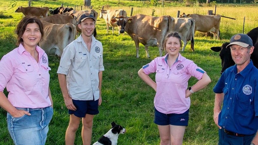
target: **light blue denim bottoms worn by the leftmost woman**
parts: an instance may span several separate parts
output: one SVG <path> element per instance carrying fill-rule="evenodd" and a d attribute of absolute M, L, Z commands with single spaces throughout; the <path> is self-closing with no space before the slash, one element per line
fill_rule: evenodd
<path fill-rule="evenodd" d="M 17 108 L 31 115 L 13 117 L 7 113 L 7 126 L 15 145 L 44 145 L 47 139 L 48 124 L 53 116 L 53 108 Z"/>

